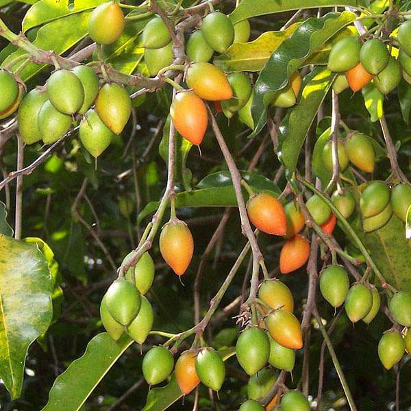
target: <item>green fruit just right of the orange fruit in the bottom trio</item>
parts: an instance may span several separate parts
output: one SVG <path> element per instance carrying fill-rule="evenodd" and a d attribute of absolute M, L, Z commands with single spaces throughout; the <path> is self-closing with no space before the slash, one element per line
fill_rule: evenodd
<path fill-rule="evenodd" d="M 219 353 L 212 348 L 202 349 L 195 359 L 195 371 L 208 388 L 218 391 L 225 379 L 225 365 Z"/>

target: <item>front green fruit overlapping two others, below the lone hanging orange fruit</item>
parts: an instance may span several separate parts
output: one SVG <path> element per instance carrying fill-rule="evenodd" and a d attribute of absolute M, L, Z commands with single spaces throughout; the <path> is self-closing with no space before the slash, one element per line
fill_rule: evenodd
<path fill-rule="evenodd" d="M 140 310 L 141 297 L 128 281 L 116 279 L 105 293 L 105 304 L 116 321 L 128 325 Z"/>

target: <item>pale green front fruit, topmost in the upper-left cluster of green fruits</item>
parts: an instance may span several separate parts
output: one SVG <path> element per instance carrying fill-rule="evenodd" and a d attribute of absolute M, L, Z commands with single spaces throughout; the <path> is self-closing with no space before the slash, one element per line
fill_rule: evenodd
<path fill-rule="evenodd" d="M 84 103 L 84 88 L 79 77 L 69 70 L 55 71 L 47 80 L 51 104 L 63 114 L 74 114 Z"/>

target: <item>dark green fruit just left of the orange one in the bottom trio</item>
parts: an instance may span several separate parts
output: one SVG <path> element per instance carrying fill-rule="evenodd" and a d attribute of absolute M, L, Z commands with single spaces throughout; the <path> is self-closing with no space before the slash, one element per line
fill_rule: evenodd
<path fill-rule="evenodd" d="M 142 359 L 142 375 L 148 384 L 155 385 L 163 382 L 171 374 L 174 358 L 171 352 L 160 345 L 147 351 Z"/>

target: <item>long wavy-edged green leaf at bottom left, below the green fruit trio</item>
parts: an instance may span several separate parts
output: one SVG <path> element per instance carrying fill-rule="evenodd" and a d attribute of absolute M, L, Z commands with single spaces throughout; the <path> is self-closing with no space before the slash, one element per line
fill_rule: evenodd
<path fill-rule="evenodd" d="M 133 340 L 123 334 L 114 341 L 106 332 L 88 343 L 82 357 L 73 361 L 60 374 L 49 393 L 49 401 L 42 411 L 77 411 L 108 373 Z"/>

